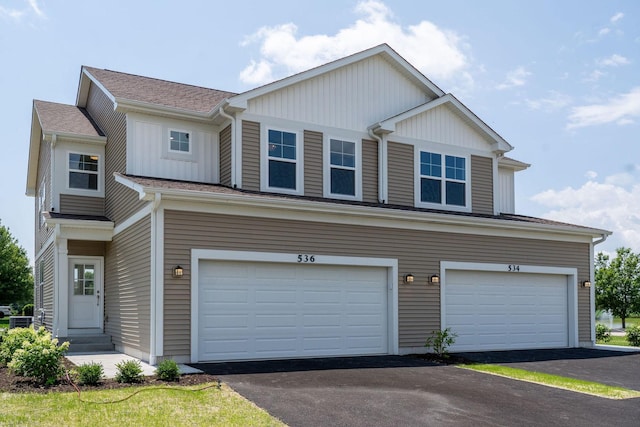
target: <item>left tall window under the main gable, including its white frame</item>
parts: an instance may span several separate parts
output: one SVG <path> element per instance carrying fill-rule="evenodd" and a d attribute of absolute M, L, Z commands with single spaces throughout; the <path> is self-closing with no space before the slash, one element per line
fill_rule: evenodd
<path fill-rule="evenodd" d="M 262 189 L 301 194 L 301 139 L 297 132 L 267 128 L 263 140 L 264 173 Z"/>

